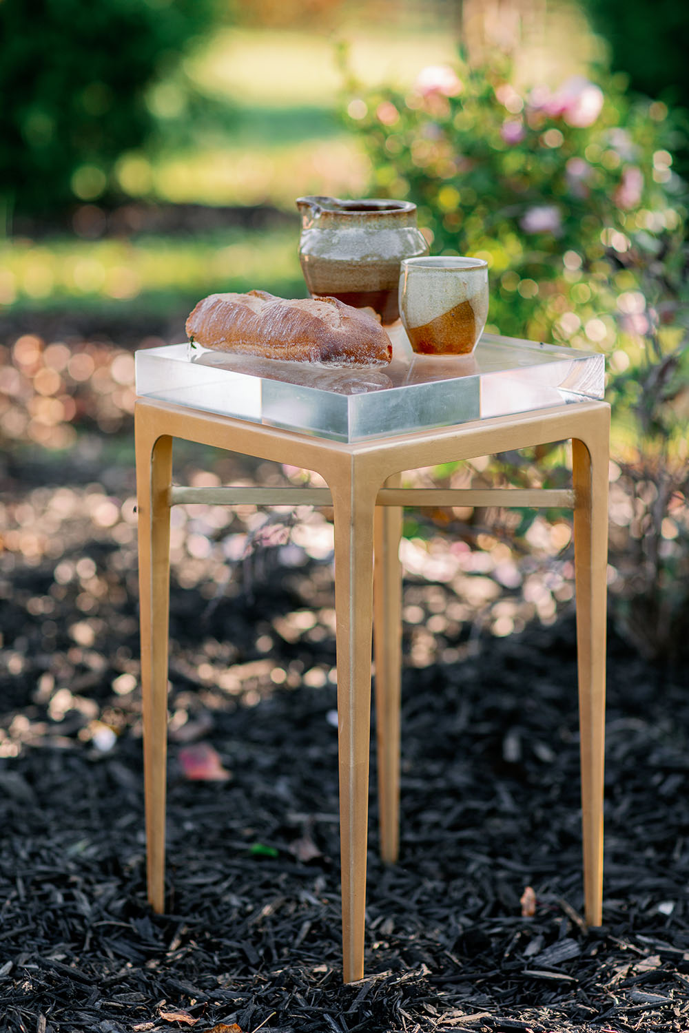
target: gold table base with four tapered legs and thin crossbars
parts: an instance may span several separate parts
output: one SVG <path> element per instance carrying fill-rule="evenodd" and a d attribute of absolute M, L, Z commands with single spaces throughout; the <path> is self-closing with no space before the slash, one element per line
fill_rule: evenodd
<path fill-rule="evenodd" d="M 340 771 L 343 974 L 364 975 L 366 854 L 374 635 L 381 854 L 398 854 L 403 505 L 571 506 L 578 660 L 584 898 L 601 924 L 609 406 L 578 402 L 355 443 L 335 442 L 166 402 L 135 406 L 142 687 L 149 900 L 164 909 L 169 510 L 179 502 L 332 505 Z M 174 488 L 181 438 L 319 473 L 327 489 Z M 404 470 L 561 440 L 572 490 L 399 488 Z M 375 560 L 374 560 L 375 554 Z M 374 619 L 375 614 L 375 619 Z"/>

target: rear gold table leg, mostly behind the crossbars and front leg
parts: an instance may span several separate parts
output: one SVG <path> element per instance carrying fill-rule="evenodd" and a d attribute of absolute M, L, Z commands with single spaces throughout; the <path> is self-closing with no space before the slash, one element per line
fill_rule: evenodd
<path fill-rule="evenodd" d="M 399 488 L 395 474 L 385 488 Z M 373 576 L 373 641 L 376 664 L 376 734 L 380 856 L 393 864 L 400 851 L 400 698 L 402 678 L 402 507 L 376 506 Z"/>

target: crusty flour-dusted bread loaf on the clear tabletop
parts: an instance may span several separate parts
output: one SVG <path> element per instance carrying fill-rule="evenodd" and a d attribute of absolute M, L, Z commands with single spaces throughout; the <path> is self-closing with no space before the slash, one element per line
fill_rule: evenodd
<path fill-rule="evenodd" d="M 289 301 L 265 290 L 210 294 L 186 330 L 203 348 L 265 358 L 377 366 L 393 356 L 390 340 L 373 316 L 337 298 Z"/>

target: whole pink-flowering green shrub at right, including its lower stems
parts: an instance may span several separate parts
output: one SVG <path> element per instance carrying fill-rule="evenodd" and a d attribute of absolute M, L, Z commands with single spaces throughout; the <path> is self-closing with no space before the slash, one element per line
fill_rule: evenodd
<path fill-rule="evenodd" d="M 647 653 L 667 655 L 689 637 L 686 191 L 670 113 L 631 101 L 625 82 L 524 93 L 497 56 L 425 69 L 407 94 L 350 83 L 345 120 L 371 192 L 413 200 L 432 253 L 488 260 L 490 328 L 606 353 L 628 503 L 614 535 L 619 613 Z M 520 482 L 529 466 L 510 453 L 495 471 Z"/>

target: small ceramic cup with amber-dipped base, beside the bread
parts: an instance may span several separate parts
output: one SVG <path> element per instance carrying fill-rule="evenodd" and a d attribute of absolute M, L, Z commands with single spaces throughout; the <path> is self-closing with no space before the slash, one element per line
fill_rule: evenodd
<path fill-rule="evenodd" d="M 468 355 L 488 318 L 488 262 L 482 258 L 405 258 L 400 316 L 421 355 Z"/>

